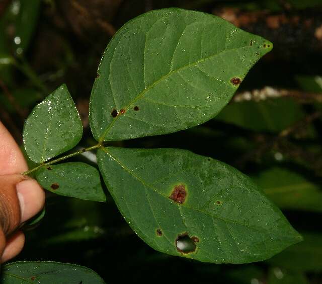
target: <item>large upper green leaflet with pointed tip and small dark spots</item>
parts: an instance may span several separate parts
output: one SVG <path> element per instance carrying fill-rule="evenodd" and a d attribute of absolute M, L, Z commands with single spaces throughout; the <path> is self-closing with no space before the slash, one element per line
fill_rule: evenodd
<path fill-rule="evenodd" d="M 133 19 L 115 34 L 98 69 L 90 101 L 94 137 L 164 134 L 209 120 L 272 47 L 197 11 L 154 10 Z"/>

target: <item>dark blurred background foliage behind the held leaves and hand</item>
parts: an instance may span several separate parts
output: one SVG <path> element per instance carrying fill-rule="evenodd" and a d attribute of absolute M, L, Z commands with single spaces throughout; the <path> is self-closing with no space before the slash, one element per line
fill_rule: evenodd
<path fill-rule="evenodd" d="M 109 195 L 102 204 L 48 194 L 46 215 L 36 228 L 25 228 L 26 246 L 16 260 L 81 264 L 107 282 L 321 283 L 320 0 L 2 0 L 0 119 L 21 144 L 23 123 L 34 105 L 66 83 L 84 125 L 81 146 L 94 145 L 89 97 L 106 45 L 128 20 L 168 7 L 220 16 L 272 41 L 274 49 L 216 118 L 113 145 L 188 149 L 236 167 L 264 188 L 304 242 L 261 263 L 199 263 L 149 248 Z M 76 159 L 95 165 L 92 156 Z"/>

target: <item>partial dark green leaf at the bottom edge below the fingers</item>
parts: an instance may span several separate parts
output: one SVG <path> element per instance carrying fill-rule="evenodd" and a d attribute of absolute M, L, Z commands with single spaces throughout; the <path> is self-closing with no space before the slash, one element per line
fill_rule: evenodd
<path fill-rule="evenodd" d="M 17 261 L 8 263 L 3 267 L 1 279 L 3 284 L 105 283 L 92 269 L 52 261 Z"/>

